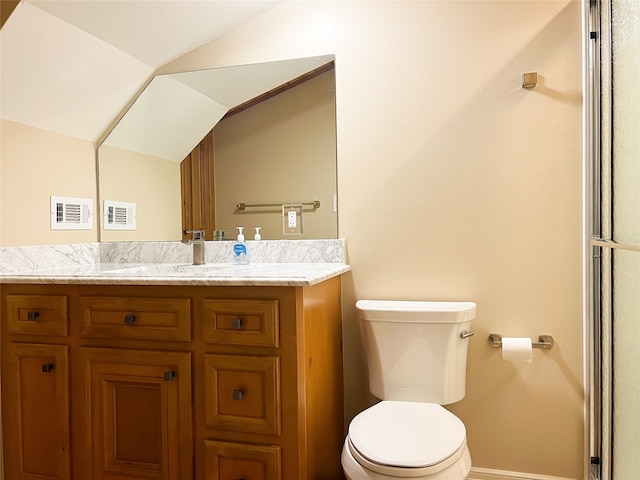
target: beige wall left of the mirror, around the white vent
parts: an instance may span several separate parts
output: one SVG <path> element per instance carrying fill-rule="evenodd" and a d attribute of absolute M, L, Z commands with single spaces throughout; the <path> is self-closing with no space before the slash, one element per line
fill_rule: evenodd
<path fill-rule="evenodd" d="M 0 245 L 95 242 L 95 145 L 0 120 Z M 51 230 L 50 197 L 93 200 L 91 230 Z"/>

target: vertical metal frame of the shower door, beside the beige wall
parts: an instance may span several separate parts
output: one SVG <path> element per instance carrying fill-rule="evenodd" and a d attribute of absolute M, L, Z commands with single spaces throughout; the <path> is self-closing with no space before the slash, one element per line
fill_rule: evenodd
<path fill-rule="evenodd" d="M 589 480 L 611 480 L 612 238 L 611 18 L 609 0 L 586 0 L 586 156 Z M 603 5 L 604 3 L 604 5 Z M 608 48 L 607 48 L 608 47 Z"/>

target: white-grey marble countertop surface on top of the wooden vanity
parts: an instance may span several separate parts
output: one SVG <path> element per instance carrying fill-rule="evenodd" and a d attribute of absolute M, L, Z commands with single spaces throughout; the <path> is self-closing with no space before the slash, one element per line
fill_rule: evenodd
<path fill-rule="evenodd" d="M 96 263 L 5 273 L 0 283 L 309 286 L 349 270 L 344 263 Z"/>

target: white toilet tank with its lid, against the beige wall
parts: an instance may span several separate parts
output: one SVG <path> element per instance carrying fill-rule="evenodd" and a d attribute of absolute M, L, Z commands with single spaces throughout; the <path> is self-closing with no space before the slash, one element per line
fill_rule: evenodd
<path fill-rule="evenodd" d="M 369 390 L 381 400 L 447 405 L 465 395 L 473 302 L 359 300 Z"/>

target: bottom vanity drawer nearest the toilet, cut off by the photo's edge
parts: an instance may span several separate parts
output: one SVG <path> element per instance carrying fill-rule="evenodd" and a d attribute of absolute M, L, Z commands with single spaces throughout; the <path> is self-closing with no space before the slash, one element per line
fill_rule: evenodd
<path fill-rule="evenodd" d="M 280 480 L 280 447 L 205 440 L 205 478 Z"/>

